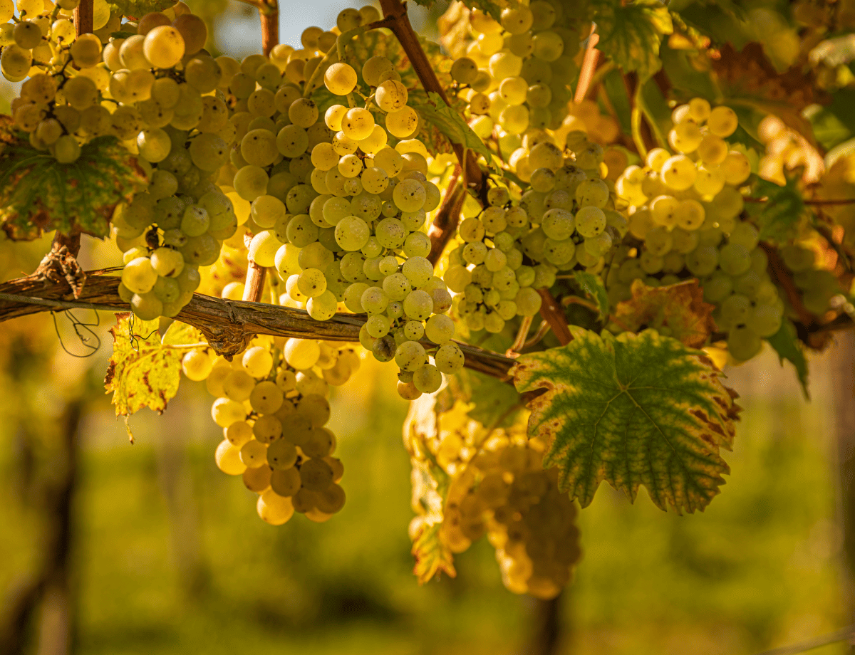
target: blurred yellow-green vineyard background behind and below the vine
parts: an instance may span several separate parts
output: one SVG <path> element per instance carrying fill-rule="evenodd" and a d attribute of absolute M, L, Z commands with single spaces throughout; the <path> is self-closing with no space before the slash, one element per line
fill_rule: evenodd
<path fill-rule="evenodd" d="M 257 14 L 228 6 L 216 28 L 221 45 L 228 40 L 224 50 L 243 54 L 233 40 L 245 39 L 255 39 L 247 52 L 257 50 Z M 283 42 L 334 21 L 345 6 L 315 2 L 315 15 L 286 7 Z M 435 26 L 433 15 L 414 23 Z M 0 110 L 8 111 L 13 93 L 2 87 Z M 0 245 L 3 280 L 31 272 L 48 243 Z M 110 266 L 121 254 L 84 237 L 80 261 L 85 269 Z M 65 652 L 57 640 L 64 613 L 74 652 L 86 655 L 477 655 L 525 652 L 536 642 L 530 635 L 542 608 L 504 591 L 486 541 L 457 559 L 457 579 L 421 588 L 412 581 L 404 529 L 410 463 L 400 442 L 407 406 L 391 367 L 364 360 L 357 379 L 333 393 L 331 427 L 349 467 L 345 511 L 330 526 L 273 529 L 257 520 L 244 497 L 251 492 L 216 471 L 211 451 L 221 435 L 208 419 L 203 383 L 182 383 L 162 418 L 135 416 L 136 444 L 128 445 L 100 386 L 110 320 L 104 315 L 95 329 L 107 345 L 82 360 L 62 351 L 45 317 L 17 319 L 0 332 L 3 626 L 50 551 L 45 507 L 62 477 L 64 426 L 80 411 L 72 584 L 68 594 L 49 594 L 32 626 L 39 653 Z M 64 319 L 59 332 L 69 350 L 84 352 Z M 852 623 L 835 439 L 844 408 L 834 393 L 852 350 L 848 360 L 834 348 L 812 358 L 811 403 L 768 350 L 727 371 L 746 411 L 728 457 L 727 493 L 704 514 L 660 512 L 646 494 L 631 508 L 605 485 L 581 512 L 585 555 L 561 601 L 559 652 L 750 653 Z"/>

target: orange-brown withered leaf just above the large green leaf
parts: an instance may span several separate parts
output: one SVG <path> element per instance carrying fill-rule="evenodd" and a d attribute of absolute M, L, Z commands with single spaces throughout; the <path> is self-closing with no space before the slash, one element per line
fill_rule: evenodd
<path fill-rule="evenodd" d="M 632 286 L 633 297 L 617 303 L 615 323 L 624 330 L 637 332 L 643 327 L 668 334 L 689 348 L 700 348 L 716 331 L 712 310 L 704 302 L 704 289 L 698 280 L 664 287 L 648 287 L 641 280 Z"/>

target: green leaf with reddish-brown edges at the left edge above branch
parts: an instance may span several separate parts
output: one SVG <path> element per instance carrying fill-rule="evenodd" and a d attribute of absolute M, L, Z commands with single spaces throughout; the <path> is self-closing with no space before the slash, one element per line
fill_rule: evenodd
<path fill-rule="evenodd" d="M 115 206 L 145 188 L 142 169 L 115 137 L 86 143 L 71 164 L 8 131 L 2 140 L 0 224 L 15 241 L 50 230 L 106 237 Z"/>

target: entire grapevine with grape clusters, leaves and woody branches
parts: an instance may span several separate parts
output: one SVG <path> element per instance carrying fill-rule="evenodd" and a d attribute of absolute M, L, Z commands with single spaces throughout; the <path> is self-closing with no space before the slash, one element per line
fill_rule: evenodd
<path fill-rule="evenodd" d="M 294 48 L 251 4 L 239 61 L 185 3 L 0 0 L 3 238 L 55 233 L 0 321 L 117 313 L 117 415 L 204 383 L 263 521 L 346 511 L 329 398 L 373 358 L 410 402 L 420 582 L 486 537 L 506 588 L 555 598 L 603 480 L 676 512 L 719 493 L 724 366 L 773 348 L 806 393 L 805 351 L 852 328 L 855 137 L 807 117 L 852 85 L 833 41 L 458 0 L 433 44 L 380 0 Z M 90 237 L 121 266 L 83 271 Z"/>

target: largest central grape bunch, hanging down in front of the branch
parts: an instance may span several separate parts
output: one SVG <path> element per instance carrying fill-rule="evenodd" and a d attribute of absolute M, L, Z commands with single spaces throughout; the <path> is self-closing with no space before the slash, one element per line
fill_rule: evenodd
<path fill-rule="evenodd" d="M 306 32 L 304 41 L 311 42 Z M 334 62 L 321 70 L 316 74 L 327 90 L 342 100 L 354 91 L 357 72 L 350 65 Z M 232 119 L 239 124 L 233 188 L 251 203 L 249 258 L 275 267 L 285 283 L 280 302 L 304 306 L 316 320 L 331 319 L 339 303 L 368 313 L 363 346 L 379 360 L 395 360 L 399 392 L 415 398 L 436 391 L 442 373 L 463 366 L 445 315 L 451 295 L 427 259 L 426 223 L 440 192 L 426 176 L 424 144 L 405 138 L 416 132 L 418 119 L 392 61 L 373 57 L 361 73 L 373 91 L 365 106 L 351 107 L 351 96 L 322 116 L 299 86 L 310 84 L 315 71 L 305 83 L 283 81 L 275 94 L 246 96 L 246 111 Z M 241 83 L 233 79 L 231 89 L 242 99 Z M 262 96 L 270 101 L 268 115 L 254 116 Z M 380 114 L 385 128 L 375 121 Z M 398 139 L 394 148 L 390 134 Z M 433 363 L 428 350 L 435 351 Z"/>

